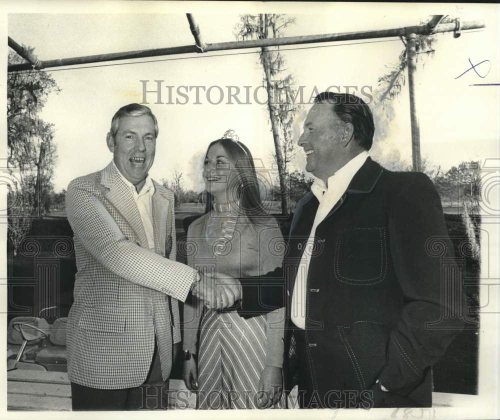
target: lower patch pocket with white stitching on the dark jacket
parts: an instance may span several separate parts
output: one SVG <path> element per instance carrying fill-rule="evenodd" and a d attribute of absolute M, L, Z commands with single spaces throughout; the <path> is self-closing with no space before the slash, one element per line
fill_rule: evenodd
<path fill-rule="evenodd" d="M 345 370 L 346 389 L 368 389 L 387 362 L 390 328 L 383 322 L 355 321 L 337 325 L 338 335 L 350 360 Z"/>

